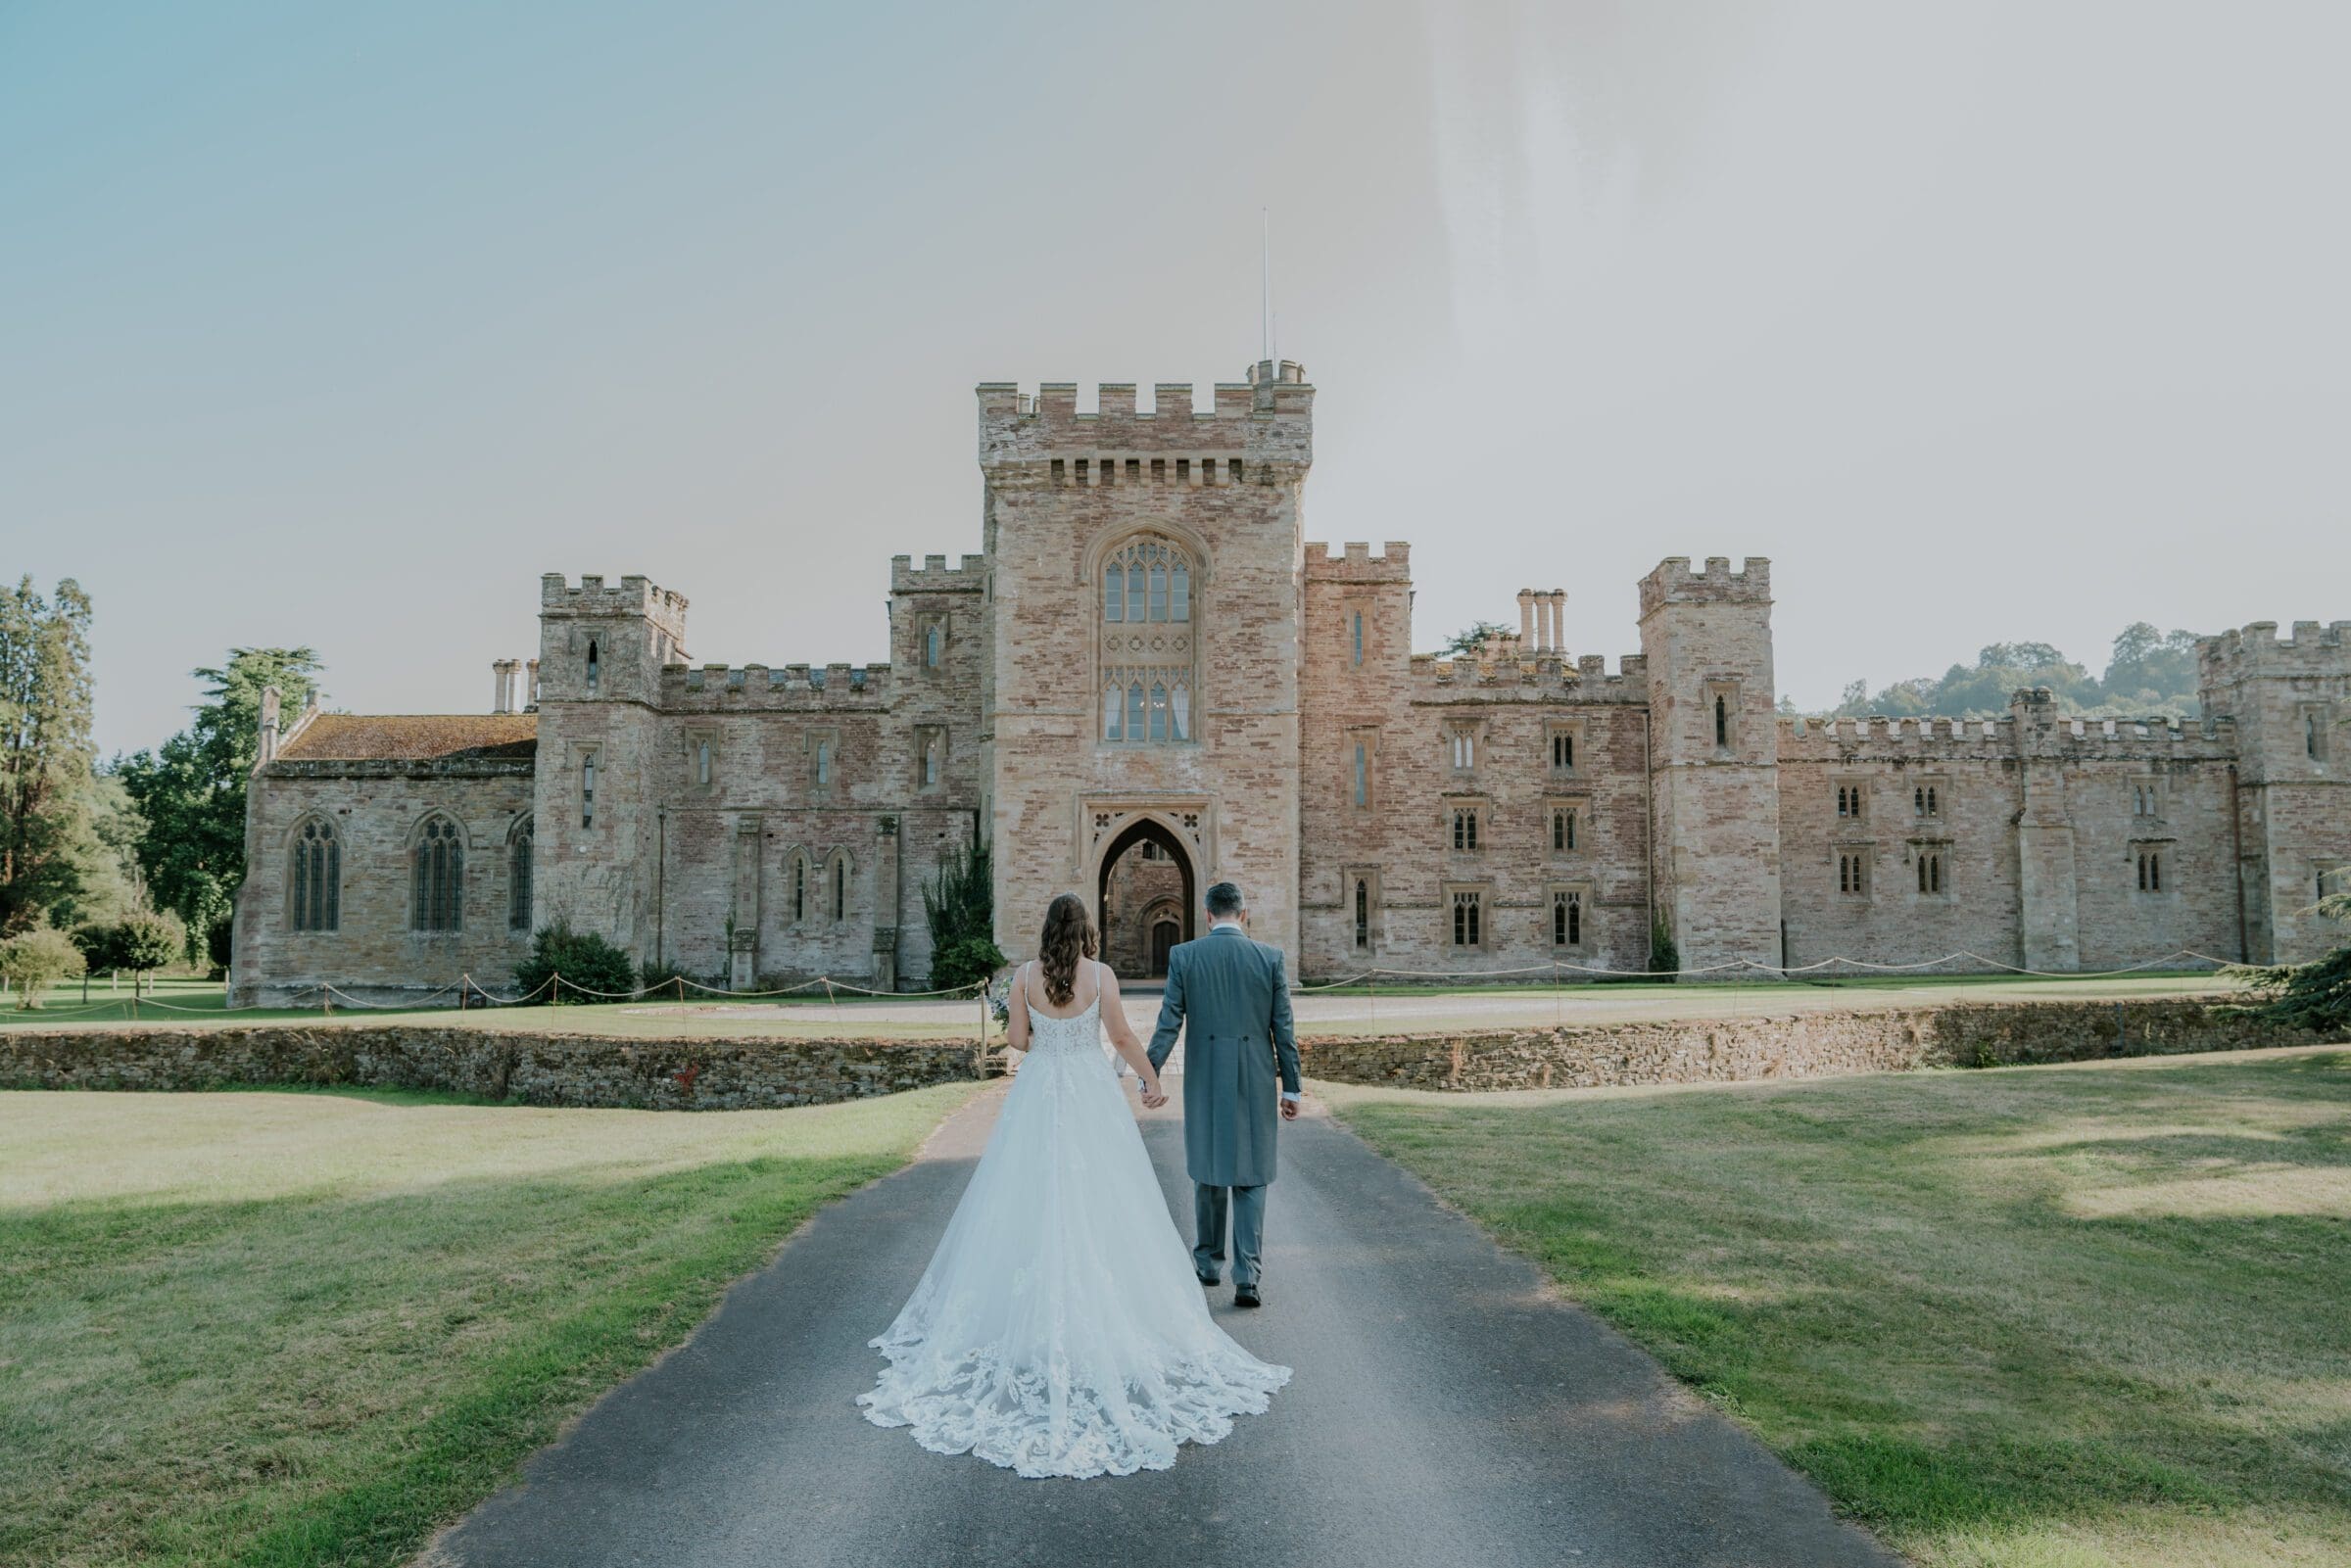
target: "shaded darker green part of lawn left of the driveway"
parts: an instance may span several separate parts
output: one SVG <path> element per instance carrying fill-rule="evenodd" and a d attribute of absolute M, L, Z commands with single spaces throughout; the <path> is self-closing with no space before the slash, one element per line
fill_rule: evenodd
<path fill-rule="evenodd" d="M 0 1213 L 0 1563 L 404 1563 L 900 1164 Z"/>

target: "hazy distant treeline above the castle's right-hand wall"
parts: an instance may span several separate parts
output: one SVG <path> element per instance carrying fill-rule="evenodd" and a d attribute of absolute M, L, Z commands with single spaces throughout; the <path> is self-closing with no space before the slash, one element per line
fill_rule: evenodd
<path fill-rule="evenodd" d="M 2008 696 L 2022 686 L 2048 686 L 2059 712 L 2083 719 L 2191 717 L 2198 712 L 2196 632 L 2158 632 L 2139 621 L 2114 639 L 2104 675 L 2090 675 L 2045 642 L 1994 642 L 1972 665 L 1951 665 L 1940 677 L 1921 675 L 1876 691 L 1853 682 L 1829 715 L 1991 719 L 2008 712 Z"/>

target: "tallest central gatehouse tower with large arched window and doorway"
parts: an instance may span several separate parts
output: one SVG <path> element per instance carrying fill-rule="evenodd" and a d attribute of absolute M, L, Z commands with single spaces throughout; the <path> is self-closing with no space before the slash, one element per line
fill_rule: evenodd
<path fill-rule="evenodd" d="M 1199 893 L 1237 882 L 1298 952 L 1300 494 L 1314 388 L 1291 362 L 1218 383 L 978 388 L 990 670 L 983 769 L 997 943 L 1053 893 L 1103 914 L 1128 851 Z"/>

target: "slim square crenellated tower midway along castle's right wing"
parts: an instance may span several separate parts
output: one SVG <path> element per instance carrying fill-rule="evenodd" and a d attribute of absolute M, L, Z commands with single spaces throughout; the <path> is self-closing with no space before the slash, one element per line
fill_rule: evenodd
<path fill-rule="evenodd" d="M 1683 971 L 1780 964 L 1780 719 L 1770 562 L 1641 578 L 1657 910 Z M 1719 978 L 1735 978 L 1723 971 Z"/>

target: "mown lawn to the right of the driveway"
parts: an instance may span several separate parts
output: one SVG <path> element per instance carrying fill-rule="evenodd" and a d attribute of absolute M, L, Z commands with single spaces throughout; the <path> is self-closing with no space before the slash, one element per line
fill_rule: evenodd
<path fill-rule="evenodd" d="M 1935 1566 L 2351 1563 L 2351 1053 L 1324 1086 Z"/>

